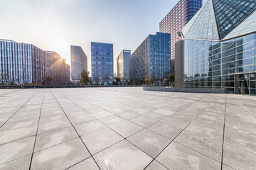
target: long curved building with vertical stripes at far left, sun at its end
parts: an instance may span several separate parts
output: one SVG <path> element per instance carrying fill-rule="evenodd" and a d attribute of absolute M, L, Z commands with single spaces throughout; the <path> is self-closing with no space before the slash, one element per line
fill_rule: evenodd
<path fill-rule="evenodd" d="M 41 84 L 46 77 L 53 84 L 70 82 L 69 65 L 56 52 L 13 40 L 0 40 L 0 75 L 5 84 Z"/>

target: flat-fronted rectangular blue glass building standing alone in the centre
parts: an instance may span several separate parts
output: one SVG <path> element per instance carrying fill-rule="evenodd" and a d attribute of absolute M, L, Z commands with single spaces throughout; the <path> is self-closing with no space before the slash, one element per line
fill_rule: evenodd
<path fill-rule="evenodd" d="M 108 85 L 114 80 L 113 44 L 91 42 L 92 84 Z"/>

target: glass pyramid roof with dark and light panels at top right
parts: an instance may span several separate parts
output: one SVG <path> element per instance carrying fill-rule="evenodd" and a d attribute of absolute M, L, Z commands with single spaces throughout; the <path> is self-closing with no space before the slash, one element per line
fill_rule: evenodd
<path fill-rule="evenodd" d="M 255 13 L 255 0 L 208 0 L 181 30 L 181 35 L 201 40 L 237 36 L 245 32 L 245 28 L 255 28 Z"/>

